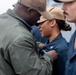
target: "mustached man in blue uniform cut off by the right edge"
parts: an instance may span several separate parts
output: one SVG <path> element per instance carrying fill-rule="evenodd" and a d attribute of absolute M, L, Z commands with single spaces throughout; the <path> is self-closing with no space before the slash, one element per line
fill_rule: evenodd
<path fill-rule="evenodd" d="M 76 27 L 76 0 L 54 0 L 63 3 L 64 16 Z M 76 75 L 76 29 L 69 42 L 68 60 L 66 63 L 65 75 Z"/>

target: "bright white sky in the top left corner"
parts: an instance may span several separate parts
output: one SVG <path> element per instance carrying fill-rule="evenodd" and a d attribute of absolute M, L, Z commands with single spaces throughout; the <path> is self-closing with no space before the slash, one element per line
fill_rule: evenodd
<path fill-rule="evenodd" d="M 0 1 L 0 14 L 6 12 L 8 8 L 13 8 L 12 5 L 16 3 L 17 0 L 1 0 Z"/>

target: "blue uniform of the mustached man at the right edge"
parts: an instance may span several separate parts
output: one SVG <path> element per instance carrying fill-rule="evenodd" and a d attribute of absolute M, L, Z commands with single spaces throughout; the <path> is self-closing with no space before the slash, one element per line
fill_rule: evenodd
<path fill-rule="evenodd" d="M 76 48 L 74 48 L 75 40 L 76 40 L 76 31 L 72 35 L 69 43 L 68 61 L 66 64 L 65 75 L 76 75 Z"/>

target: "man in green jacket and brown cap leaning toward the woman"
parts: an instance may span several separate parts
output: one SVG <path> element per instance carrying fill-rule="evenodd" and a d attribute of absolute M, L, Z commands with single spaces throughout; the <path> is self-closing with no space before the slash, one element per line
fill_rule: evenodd
<path fill-rule="evenodd" d="M 18 0 L 13 10 L 0 15 L 0 75 L 51 75 L 57 53 L 39 57 L 31 26 L 40 16 L 51 20 L 46 0 Z"/>

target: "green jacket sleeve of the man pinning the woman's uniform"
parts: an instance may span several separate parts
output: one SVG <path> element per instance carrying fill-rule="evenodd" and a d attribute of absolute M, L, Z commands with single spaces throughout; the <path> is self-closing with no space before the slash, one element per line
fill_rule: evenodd
<path fill-rule="evenodd" d="M 52 57 L 48 54 L 39 57 L 31 38 L 16 39 L 9 46 L 11 64 L 18 75 L 51 75 Z"/>

